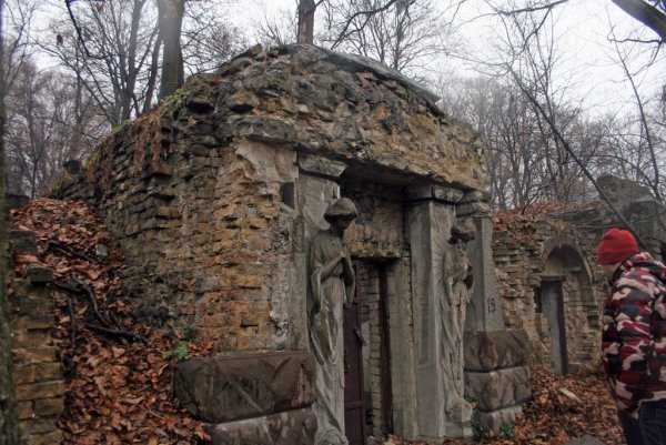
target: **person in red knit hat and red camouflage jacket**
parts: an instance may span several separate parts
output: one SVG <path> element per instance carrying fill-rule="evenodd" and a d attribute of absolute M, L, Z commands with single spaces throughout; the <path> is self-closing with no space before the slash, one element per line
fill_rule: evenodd
<path fill-rule="evenodd" d="M 666 445 L 666 267 L 622 229 L 604 234 L 597 262 L 612 287 L 602 360 L 626 442 Z"/>

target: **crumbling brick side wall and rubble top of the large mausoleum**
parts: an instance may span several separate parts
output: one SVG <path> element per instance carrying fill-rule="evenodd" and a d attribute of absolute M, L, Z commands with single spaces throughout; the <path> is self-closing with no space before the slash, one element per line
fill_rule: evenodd
<path fill-rule="evenodd" d="M 478 139 L 367 63 L 314 47 L 250 52 L 117 129 L 61 182 L 59 196 L 90 201 L 119 239 L 140 318 L 191 326 L 219 351 L 305 347 L 290 317 L 305 281 L 287 273 L 309 247 L 294 202 L 309 192 L 301 154 L 344 161 L 349 178 L 372 169 L 380 182 L 483 188 Z M 352 254 L 400 257 L 401 196 L 376 211 L 375 199 L 357 200 Z"/>

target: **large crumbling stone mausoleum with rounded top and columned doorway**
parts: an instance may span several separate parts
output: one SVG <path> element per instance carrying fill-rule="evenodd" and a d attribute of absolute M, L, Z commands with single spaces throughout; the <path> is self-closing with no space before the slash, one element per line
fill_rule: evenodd
<path fill-rule="evenodd" d="M 483 146 L 436 100 L 365 58 L 256 48 L 70 165 L 60 196 L 92 203 L 119 240 L 137 316 L 216 340 L 174 382 L 214 443 L 317 443 L 309 252 L 339 198 L 357 209 L 350 443 L 470 435 L 463 396 L 495 427 L 531 396 L 527 337 L 497 294 Z"/>

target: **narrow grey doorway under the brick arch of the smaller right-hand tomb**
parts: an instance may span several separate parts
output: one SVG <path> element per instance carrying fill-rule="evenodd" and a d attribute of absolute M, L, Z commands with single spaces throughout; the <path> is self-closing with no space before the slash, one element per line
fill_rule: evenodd
<path fill-rule="evenodd" d="M 566 331 L 564 322 L 563 276 L 542 275 L 537 295 L 537 310 L 548 322 L 551 332 L 551 362 L 553 371 L 568 373 Z"/>

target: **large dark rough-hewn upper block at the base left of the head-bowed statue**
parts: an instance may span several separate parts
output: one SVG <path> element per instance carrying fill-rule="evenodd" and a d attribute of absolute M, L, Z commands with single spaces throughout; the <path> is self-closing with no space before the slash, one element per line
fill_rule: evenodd
<path fill-rule="evenodd" d="M 304 351 L 195 357 L 179 364 L 174 391 L 210 423 L 302 408 L 314 401 L 314 358 Z"/>

